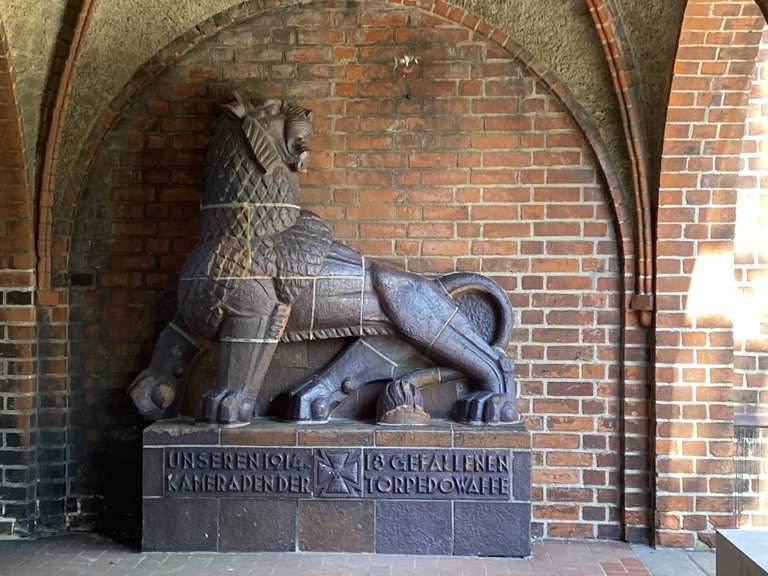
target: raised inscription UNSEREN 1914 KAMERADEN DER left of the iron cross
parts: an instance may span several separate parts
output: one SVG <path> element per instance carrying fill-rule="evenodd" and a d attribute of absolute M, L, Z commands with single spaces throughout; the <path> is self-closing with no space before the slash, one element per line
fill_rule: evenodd
<path fill-rule="evenodd" d="M 311 496 L 312 464 L 307 448 L 168 448 L 165 494 Z"/>

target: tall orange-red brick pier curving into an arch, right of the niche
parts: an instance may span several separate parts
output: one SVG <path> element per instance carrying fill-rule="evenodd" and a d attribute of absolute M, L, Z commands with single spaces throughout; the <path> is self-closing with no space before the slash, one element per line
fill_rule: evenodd
<path fill-rule="evenodd" d="M 714 529 L 736 523 L 728 298 L 705 296 L 711 310 L 700 315 L 689 303 L 695 282 L 727 284 L 733 273 L 739 156 L 765 25 L 753 0 L 699 0 L 688 3 L 680 33 L 657 219 L 655 499 L 663 546 L 712 545 Z"/>

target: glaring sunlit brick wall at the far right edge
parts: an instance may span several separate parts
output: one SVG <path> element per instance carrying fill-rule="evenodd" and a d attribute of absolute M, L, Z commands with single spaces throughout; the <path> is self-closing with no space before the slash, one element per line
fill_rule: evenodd
<path fill-rule="evenodd" d="M 737 414 L 768 414 L 768 26 L 763 28 L 741 143 L 734 239 L 734 403 Z M 737 426 L 739 526 L 768 526 L 768 434 Z"/>

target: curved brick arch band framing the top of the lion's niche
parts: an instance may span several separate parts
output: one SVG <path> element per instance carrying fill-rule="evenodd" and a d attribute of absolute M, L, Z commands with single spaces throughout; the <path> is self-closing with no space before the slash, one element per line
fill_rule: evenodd
<path fill-rule="evenodd" d="M 323 0 L 315 1 L 322 2 Z M 440 0 L 427 0 L 425 2 L 419 2 L 418 5 L 415 5 L 411 0 L 381 1 L 385 1 L 389 4 L 416 8 L 423 12 L 435 14 L 487 37 L 490 41 L 498 44 L 508 52 L 510 57 L 522 62 L 560 99 L 584 133 L 598 159 L 603 176 L 608 184 L 615 228 L 619 238 L 618 244 L 623 258 L 624 272 L 627 277 L 626 283 L 627 286 L 636 284 L 638 278 L 637 262 L 638 260 L 642 260 L 642 258 L 638 258 L 638 244 L 636 241 L 636 233 L 634 231 L 637 222 L 633 222 L 632 216 L 628 211 L 621 190 L 621 184 L 616 171 L 612 166 L 606 143 L 589 118 L 589 115 L 578 103 L 568 87 L 543 64 L 537 62 L 528 51 L 516 44 L 505 32 L 494 28 L 480 18 L 467 13 L 462 8 L 452 6 L 451 4 Z M 71 225 L 74 222 L 77 196 L 83 178 L 93 160 L 93 154 L 98 148 L 99 143 L 119 119 L 121 111 L 128 102 L 130 102 L 132 96 L 137 94 L 151 79 L 155 78 L 169 65 L 177 61 L 183 54 L 224 28 L 252 18 L 260 13 L 266 13 L 270 10 L 278 10 L 304 4 L 306 4 L 306 2 L 297 2 L 296 0 L 249 0 L 248 2 L 227 9 L 204 23 L 195 26 L 189 32 L 171 42 L 134 75 L 133 79 L 123 89 L 122 93 L 113 100 L 109 110 L 101 115 L 100 122 L 95 125 L 88 134 L 82 153 L 75 165 L 73 171 L 74 174 L 63 188 L 62 198 L 59 199 L 54 197 L 53 185 L 44 187 L 41 192 L 39 201 L 41 214 L 46 210 L 50 210 L 50 207 L 52 207 L 54 203 L 58 204 L 59 202 L 62 202 L 66 205 L 66 208 L 63 210 L 63 215 L 44 218 L 41 220 L 39 226 L 38 247 L 40 250 L 40 262 L 43 267 L 39 274 L 41 289 L 48 289 L 51 287 L 50 270 L 64 269 L 67 265 Z M 84 22 L 86 22 L 86 24 L 83 26 L 87 26 L 87 20 L 84 20 Z M 50 144 L 50 147 L 55 150 L 56 145 L 57 143 L 54 141 Z M 63 221 L 64 229 L 54 230 L 54 225 L 58 224 L 56 221 Z M 54 238 L 56 238 L 55 246 Z M 641 291 L 640 286 L 637 286 L 637 289 L 638 291 Z"/>

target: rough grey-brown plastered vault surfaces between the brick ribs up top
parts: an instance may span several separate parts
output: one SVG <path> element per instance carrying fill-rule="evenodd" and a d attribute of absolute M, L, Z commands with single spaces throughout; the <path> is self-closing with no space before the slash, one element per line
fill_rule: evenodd
<path fill-rule="evenodd" d="M 365 0 L 363 0 L 365 1 Z M 84 136 L 133 74 L 158 50 L 235 0 L 91 0 L 90 24 L 82 40 L 61 123 L 56 182 L 67 177 Z M 585 0 L 454 0 L 505 31 L 565 84 L 606 144 L 626 197 L 633 205 L 630 159 L 611 71 Z M 0 0 L 14 62 L 18 100 L 34 174 L 39 170 L 46 102 L 55 92 L 56 64 L 71 42 L 73 6 L 88 0 Z M 611 0 L 634 62 L 641 117 L 652 166 L 658 163 L 666 99 L 684 0 Z M 64 48 L 62 49 L 62 45 Z M 46 111 L 46 112 L 43 112 Z M 41 120 L 42 118 L 42 120 Z M 41 130 L 42 127 L 42 130 Z"/>

